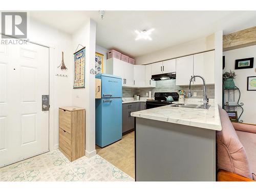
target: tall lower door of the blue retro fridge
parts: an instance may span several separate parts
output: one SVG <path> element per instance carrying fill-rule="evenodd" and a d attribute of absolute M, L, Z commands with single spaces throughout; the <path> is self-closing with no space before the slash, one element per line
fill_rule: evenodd
<path fill-rule="evenodd" d="M 101 147 L 122 138 L 122 99 L 101 99 Z"/>

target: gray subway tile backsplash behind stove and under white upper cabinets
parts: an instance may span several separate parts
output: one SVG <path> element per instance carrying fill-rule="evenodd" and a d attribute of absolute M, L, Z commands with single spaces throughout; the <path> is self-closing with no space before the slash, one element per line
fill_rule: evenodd
<path fill-rule="evenodd" d="M 148 97 L 146 93 L 151 91 L 152 97 L 154 97 L 155 92 L 176 92 L 178 90 L 184 90 L 187 98 L 187 93 L 189 86 L 176 86 L 176 79 L 156 81 L 156 88 L 123 88 L 123 97 L 133 97 L 135 94 L 141 97 Z M 206 92 L 209 99 L 214 99 L 214 84 L 206 86 Z M 196 97 L 192 98 L 203 98 L 203 86 L 191 86 L 191 92 L 197 92 Z"/>

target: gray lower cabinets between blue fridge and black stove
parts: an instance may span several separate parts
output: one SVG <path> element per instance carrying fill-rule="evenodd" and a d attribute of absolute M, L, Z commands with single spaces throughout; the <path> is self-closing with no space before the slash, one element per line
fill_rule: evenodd
<path fill-rule="evenodd" d="M 134 129 L 134 117 L 132 112 L 145 110 L 145 102 L 134 102 L 122 104 L 122 133 Z"/>

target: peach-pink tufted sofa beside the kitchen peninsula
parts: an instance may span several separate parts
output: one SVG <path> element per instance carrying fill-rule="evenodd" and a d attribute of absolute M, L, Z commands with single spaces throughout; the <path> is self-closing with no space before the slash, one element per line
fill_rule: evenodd
<path fill-rule="evenodd" d="M 226 111 L 219 111 L 222 131 L 216 133 L 218 180 L 229 173 L 235 178 L 227 176 L 224 181 L 238 181 L 240 176 L 244 181 L 256 180 L 256 125 L 230 122 Z"/>

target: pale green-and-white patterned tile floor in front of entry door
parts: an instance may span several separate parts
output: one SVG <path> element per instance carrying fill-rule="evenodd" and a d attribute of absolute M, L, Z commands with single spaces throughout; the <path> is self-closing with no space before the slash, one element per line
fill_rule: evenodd
<path fill-rule="evenodd" d="M 134 181 L 96 155 L 70 162 L 59 150 L 0 168 L 0 181 Z"/>

